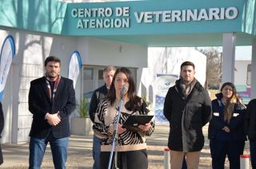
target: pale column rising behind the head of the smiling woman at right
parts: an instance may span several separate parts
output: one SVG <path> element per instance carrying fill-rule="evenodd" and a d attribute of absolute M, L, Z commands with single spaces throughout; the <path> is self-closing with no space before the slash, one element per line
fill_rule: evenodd
<path fill-rule="evenodd" d="M 222 83 L 234 83 L 235 34 L 223 33 L 222 42 Z"/>

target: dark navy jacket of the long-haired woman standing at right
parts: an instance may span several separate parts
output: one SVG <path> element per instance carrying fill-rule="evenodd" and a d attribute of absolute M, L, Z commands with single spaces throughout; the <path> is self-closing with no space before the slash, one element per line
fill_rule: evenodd
<path fill-rule="evenodd" d="M 230 136 L 232 140 L 246 140 L 246 135 L 244 132 L 246 108 L 240 103 L 234 104 L 234 112 L 230 119 L 230 123 L 227 124 L 223 119 L 224 112 L 221 110 L 220 105 L 222 95 L 218 93 L 216 96 L 217 99 L 212 100 L 213 118 L 210 120 L 208 128 L 208 139 L 214 140 L 216 134 L 220 134 L 222 132 L 222 128 L 227 126 L 230 128 Z"/>

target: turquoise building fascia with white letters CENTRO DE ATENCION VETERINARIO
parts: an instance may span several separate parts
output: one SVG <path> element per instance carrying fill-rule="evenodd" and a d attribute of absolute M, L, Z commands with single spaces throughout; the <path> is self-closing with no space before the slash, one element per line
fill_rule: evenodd
<path fill-rule="evenodd" d="M 254 6 L 250 1 L 161 0 L 66 3 L 34 0 L 14 10 L 18 0 L 4 1 L 0 26 L 67 36 L 94 36 L 118 41 L 131 36 L 176 36 L 181 33 L 250 33 Z M 32 3 L 33 4 L 30 4 Z M 38 5 L 42 5 L 37 8 Z M 32 7 L 32 8 L 31 8 Z M 44 18 L 44 19 L 42 19 Z M 20 22 L 11 22 L 20 21 Z M 127 36 L 126 37 L 120 37 Z M 149 36 L 150 35 L 150 36 Z M 105 37 L 102 37 L 105 36 Z M 122 40 L 123 41 L 123 40 Z M 249 41 L 249 40 L 248 40 Z M 127 42 L 134 41 L 128 39 Z M 251 41 L 250 41 L 251 42 Z M 249 42 L 249 43 L 250 43 Z"/>

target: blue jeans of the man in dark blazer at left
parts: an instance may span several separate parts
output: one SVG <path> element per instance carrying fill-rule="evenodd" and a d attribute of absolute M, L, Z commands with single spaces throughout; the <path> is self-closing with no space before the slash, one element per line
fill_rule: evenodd
<path fill-rule="evenodd" d="M 51 153 L 54 160 L 54 168 L 65 169 L 68 137 L 54 138 L 51 134 L 46 139 L 30 137 L 30 167 L 29 169 L 40 169 L 47 143 L 50 143 Z"/>

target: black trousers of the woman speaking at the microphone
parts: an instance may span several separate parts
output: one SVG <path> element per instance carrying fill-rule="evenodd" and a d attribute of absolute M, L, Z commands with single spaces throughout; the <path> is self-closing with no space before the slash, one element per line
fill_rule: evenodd
<path fill-rule="evenodd" d="M 101 168 L 107 169 L 110 160 L 110 151 L 101 151 L 100 161 Z M 111 162 L 111 168 L 114 166 L 114 155 Z M 118 167 L 120 169 L 147 169 L 147 153 L 146 149 L 138 151 L 119 151 L 118 152 Z"/>

